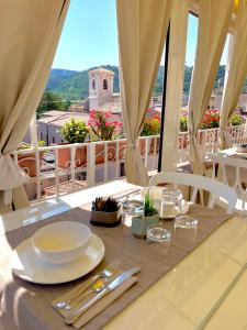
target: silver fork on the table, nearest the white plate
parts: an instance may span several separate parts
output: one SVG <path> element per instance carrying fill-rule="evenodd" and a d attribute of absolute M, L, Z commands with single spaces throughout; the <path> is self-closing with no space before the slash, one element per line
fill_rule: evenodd
<path fill-rule="evenodd" d="M 80 286 L 78 286 L 77 292 L 71 294 L 71 296 L 68 299 L 58 301 L 56 304 L 56 307 L 58 309 L 70 309 L 72 301 L 76 300 L 96 280 L 98 280 L 100 278 L 109 278 L 110 276 L 112 276 L 113 273 L 119 267 L 120 263 L 121 262 L 119 258 L 114 258 L 102 272 L 100 272 L 99 274 L 97 274 L 92 278 L 90 278 L 90 280 L 87 283 L 87 285 L 81 284 Z"/>

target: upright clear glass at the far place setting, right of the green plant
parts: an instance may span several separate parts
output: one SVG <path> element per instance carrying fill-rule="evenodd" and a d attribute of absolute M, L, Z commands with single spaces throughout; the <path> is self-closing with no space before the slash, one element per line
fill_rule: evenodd
<path fill-rule="evenodd" d="M 182 193 L 179 189 L 164 189 L 159 217 L 173 219 L 181 213 Z"/>

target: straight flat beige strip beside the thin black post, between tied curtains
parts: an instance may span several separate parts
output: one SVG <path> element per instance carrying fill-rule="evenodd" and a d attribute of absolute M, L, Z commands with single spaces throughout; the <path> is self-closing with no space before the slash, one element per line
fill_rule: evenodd
<path fill-rule="evenodd" d="M 187 0 L 173 0 L 171 10 L 161 170 L 176 170 L 178 161 L 189 4 Z"/>

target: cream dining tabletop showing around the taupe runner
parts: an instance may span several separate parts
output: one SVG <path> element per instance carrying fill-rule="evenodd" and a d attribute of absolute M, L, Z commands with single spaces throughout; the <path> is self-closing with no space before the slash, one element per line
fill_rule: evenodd
<path fill-rule="evenodd" d="M 13 231 L 24 231 L 35 223 L 45 224 L 50 217 L 75 210 L 83 205 L 87 209 L 98 196 L 122 196 L 137 188 L 142 187 L 125 180 L 113 180 L 1 215 L 1 246 L 8 246 L 5 237 Z M 11 252 L 9 246 L 4 255 L 5 263 L 0 260 L 0 279 L 9 267 L 8 257 Z M 1 255 L 2 251 L 0 257 Z M 4 290 L 5 286 L 0 285 L 0 297 L 3 296 Z M 111 318 L 103 329 L 247 329 L 246 292 L 247 218 L 233 213 L 164 276 Z M 14 297 L 12 301 L 18 304 Z M 0 316 L 0 329 L 7 329 L 1 310 Z M 26 309 L 25 315 L 16 316 L 11 320 L 16 329 L 21 329 L 18 318 L 22 317 L 32 318 L 32 308 Z M 8 310 L 4 312 L 4 318 L 8 318 Z M 9 318 L 13 318 L 13 315 Z M 12 329 L 8 328 L 8 330 Z"/>

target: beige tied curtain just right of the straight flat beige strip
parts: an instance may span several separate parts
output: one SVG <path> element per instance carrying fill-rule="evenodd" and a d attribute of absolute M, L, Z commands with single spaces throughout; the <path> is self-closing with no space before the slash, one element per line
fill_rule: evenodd
<path fill-rule="evenodd" d="M 189 102 L 190 160 L 195 174 L 203 174 L 195 136 L 209 106 L 233 6 L 233 0 L 200 1 L 198 45 Z"/>

